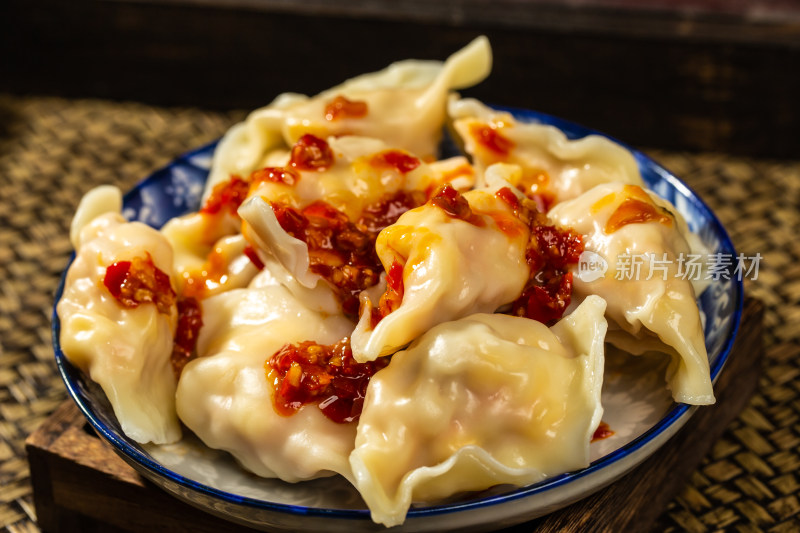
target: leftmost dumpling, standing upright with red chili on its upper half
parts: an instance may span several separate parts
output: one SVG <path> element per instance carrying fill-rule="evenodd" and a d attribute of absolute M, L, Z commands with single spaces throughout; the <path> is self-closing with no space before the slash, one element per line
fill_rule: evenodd
<path fill-rule="evenodd" d="M 118 189 L 103 188 L 78 207 L 75 260 L 57 305 L 61 349 L 102 387 L 128 437 L 174 442 L 172 249 L 155 229 L 127 222 L 121 205 Z"/>

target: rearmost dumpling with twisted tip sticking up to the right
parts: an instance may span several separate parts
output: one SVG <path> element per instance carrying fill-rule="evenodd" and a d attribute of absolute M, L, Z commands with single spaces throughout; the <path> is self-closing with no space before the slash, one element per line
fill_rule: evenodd
<path fill-rule="evenodd" d="M 223 137 L 215 154 L 206 196 L 231 174 L 247 175 L 280 161 L 303 135 L 375 137 L 423 157 L 435 156 L 451 90 L 489 75 L 489 41 L 479 37 L 444 63 L 401 61 L 308 98 L 280 95 Z"/>

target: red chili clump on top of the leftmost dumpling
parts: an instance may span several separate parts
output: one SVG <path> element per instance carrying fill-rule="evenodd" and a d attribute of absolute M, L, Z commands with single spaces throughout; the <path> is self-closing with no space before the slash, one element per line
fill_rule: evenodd
<path fill-rule="evenodd" d="M 124 307 L 133 309 L 153 303 L 159 313 L 170 314 L 175 303 L 169 276 L 153 264 L 150 254 L 117 261 L 106 268 L 103 285 Z"/>

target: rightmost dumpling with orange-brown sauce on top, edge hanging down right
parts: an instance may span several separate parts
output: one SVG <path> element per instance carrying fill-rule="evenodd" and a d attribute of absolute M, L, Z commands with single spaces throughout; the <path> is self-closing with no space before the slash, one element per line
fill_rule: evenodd
<path fill-rule="evenodd" d="M 604 275 L 576 275 L 574 293 L 607 300 L 608 341 L 635 354 L 668 354 L 675 401 L 714 403 L 696 293 L 679 271 L 681 256 L 692 252 L 689 229 L 675 207 L 640 187 L 610 183 L 548 217 L 583 234 L 585 249 L 607 262 Z"/>

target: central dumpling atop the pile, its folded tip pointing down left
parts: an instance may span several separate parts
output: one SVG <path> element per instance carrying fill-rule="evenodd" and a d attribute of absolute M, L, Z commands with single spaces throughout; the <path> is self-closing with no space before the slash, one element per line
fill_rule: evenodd
<path fill-rule="evenodd" d="M 491 313 L 520 296 L 530 274 L 530 230 L 497 194 L 508 190 L 503 184 L 463 195 L 445 186 L 378 235 L 387 289 L 378 302 L 361 296 L 351 342 L 357 361 L 394 353 L 436 324 Z"/>

